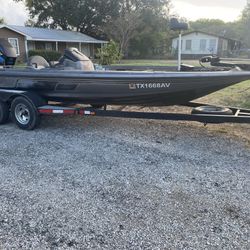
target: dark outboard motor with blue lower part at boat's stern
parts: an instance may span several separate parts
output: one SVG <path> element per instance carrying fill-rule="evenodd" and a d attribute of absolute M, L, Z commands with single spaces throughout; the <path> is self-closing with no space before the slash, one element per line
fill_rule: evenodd
<path fill-rule="evenodd" d="M 0 38 L 0 65 L 14 66 L 16 63 L 16 50 L 7 39 Z"/>

